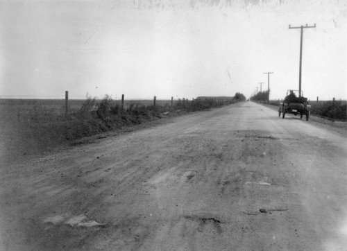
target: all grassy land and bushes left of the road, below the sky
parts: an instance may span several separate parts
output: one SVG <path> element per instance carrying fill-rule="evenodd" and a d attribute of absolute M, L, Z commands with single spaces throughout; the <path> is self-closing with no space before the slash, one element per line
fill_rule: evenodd
<path fill-rule="evenodd" d="M 197 98 L 174 101 L 120 101 L 105 96 L 103 100 L 87 97 L 69 101 L 65 114 L 64 101 L 0 100 L 1 141 L 3 155 L 27 155 L 66 144 L 102 132 L 128 130 L 133 126 L 187 112 L 208 110 L 244 101 L 243 94 L 229 99 Z M 8 156 L 6 156 L 8 157 Z"/>

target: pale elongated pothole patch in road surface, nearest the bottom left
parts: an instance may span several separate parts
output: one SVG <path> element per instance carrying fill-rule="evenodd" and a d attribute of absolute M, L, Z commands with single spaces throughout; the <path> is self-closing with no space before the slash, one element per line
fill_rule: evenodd
<path fill-rule="evenodd" d="M 65 224 L 70 225 L 71 227 L 96 227 L 96 226 L 104 226 L 103 223 L 98 223 L 95 220 L 90 220 L 84 214 L 74 216 L 71 218 L 66 218 L 63 216 L 51 216 L 46 218 L 44 223 L 53 223 L 53 225 Z"/>

